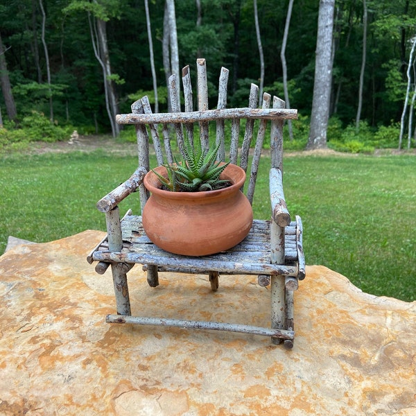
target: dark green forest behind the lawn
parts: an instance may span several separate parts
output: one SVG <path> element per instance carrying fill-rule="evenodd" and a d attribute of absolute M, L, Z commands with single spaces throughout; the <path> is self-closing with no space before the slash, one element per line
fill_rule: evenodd
<path fill-rule="evenodd" d="M 196 58 L 206 58 L 214 89 L 227 67 L 229 105 L 240 107 L 250 82 L 284 98 L 287 75 L 286 101 L 300 120 L 286 147 L 304 148 L 325 2 L 334 6 L 328 145 L 352 152 L 414 147 L 415 0 L 1 0 L 0 146 L 68 139 L 73 130 L 119 135 L 109 108 L 130 112 L 144 92 L 166 110 L 171 3 L 179 67 L 192 70 Z"/>

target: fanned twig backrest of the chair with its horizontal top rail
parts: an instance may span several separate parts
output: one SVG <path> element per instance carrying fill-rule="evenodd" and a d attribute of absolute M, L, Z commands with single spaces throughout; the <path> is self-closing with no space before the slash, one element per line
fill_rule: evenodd
<path fill-rule="evenodd" d="M 191 143 L 193 135 L 199 132 L 203 148 L 209 148 L 209 128 L 214 128 L 210 124 L 214 123 L 216 128 L 216 144 L 220 141 L 221 146 L 218 151 L 218 160 L 231 160 L 233 164 L 239 164 L 247 173 L 249 181 L 246 195 L 250 203 L 254 196 L 254 188 L 257 179 L 257 171 L 263 150 L 263 141 L 266 135 L 267 124 L 270 120 L 270 159 L 271 167 L 282 171 L 283 155 L 283 123 L 285 119 L 296 119 L 297 110 L 285 109 L 285 103 L 276 96 L 272 100 L 270 108 L 270 94 L 263 94 L 262 107 L 257 108 L 259 102 L 259 87 L 252 84 L 248 107 L 226 108 L 227 105 L 227 83 L 229 71 L 221 68 L 218 83 L 218 104 L 216 110 L 208 108 L 208 87 L 207 87 L 207 66 L 205 59 L 198 59 L 196 63 L 198 79 L 198 110 L 193 110 L 193 91 L 191 87 L 191 76 L 189 66 L 182 69 L 182 83 L 184 92 L 184 112 L 181 112 L 179 94 L 175 76 L 169 78 L 168 94 L 171 98 L 171 113 L 153 114 L 148 97 L 135 101 L 132 104 L 132 113 L 118 114 L 117 123 L 135 124 L 137 131 L 137 148 L 139 153 L 139 166 L 150 168 L 149 162 L 149 142 L 151 137 L 157 159 L 157 164 L 173 162 L 173 150 L 171 146 L 171 130 L 169 125 L 173 125 L 177 147 L 182 150 L 184 134 L 187 134 Z M 241 119 L 245 119 L 244 134 L 240 132 Z M 254 124 L 259 120 L 257 125 Z M 198 128 L 194 128 L 198 125 Z M 159 127 L 160 126 L 160 127 Z M 254 145 L 254 153 L 250 171 L 248 171 L 250 148 L 252 148 L 252 138 L 257 127 L 257 138 Z M 229 132 L 230 140 L 225 140 L 225 132 Z M 162 135 L 163 140 L 160 139 Z M 162 149 L 162 142 L 163 147 Z M 229 142 L 229 150 L 225 151 L 225 143 Z M 143 209 L 148 198 L 148 193 L 144 187 L 140 188 L 140 202 Z"/>

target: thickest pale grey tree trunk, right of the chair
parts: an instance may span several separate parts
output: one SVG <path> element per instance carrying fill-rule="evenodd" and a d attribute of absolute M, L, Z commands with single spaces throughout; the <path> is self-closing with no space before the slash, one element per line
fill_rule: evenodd
<path fill-rule="evenodd" d="M 306 149 L 327 147 L 327 127 L 332 81 L 332 33 L 335 0 L 320 0 L 316 40 L 315 80 L 311 128 Z"/>

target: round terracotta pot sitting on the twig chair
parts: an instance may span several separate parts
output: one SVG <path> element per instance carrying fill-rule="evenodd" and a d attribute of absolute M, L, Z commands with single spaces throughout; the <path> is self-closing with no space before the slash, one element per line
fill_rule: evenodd
<path fill-rule="evenodd" d="M 166 168 L 155 169 L 166 176 Z M 230 187 L 216 191 L 171 192 L 161 188 L 153 171 L 144 177 L 151 196 L 143 211 L 143 226 L 150 241 L 175 254 L 205 256 L 234 247 L 252 225 L 250 202 L 240 191 L 245 172 L 229 164 L 220 176 Z"/>

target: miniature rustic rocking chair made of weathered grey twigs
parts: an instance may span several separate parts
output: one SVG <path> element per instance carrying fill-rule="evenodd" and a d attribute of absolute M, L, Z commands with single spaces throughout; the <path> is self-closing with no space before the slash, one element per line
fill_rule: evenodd
<path fill-rule="evenodd" d="M 285 119 L 295 119 L 297 110 L 286 110 L 284 101 L 274 97 L 270 109 L 270 95 L 263 94 L 263 105 L 257 108 L 259 89 L 251 85 L 249 105 L 245 108 L 227 109 L 227 80 L 229 71 L 222 68 L 218 87 L 218 106 L 208 110 L 207 68 L 204 59 L 197 60 L 198 111 L 193 111 L 191 78 L 189 67 L 182 70 L 185 112 L 180 112 L 175 76 L 169 80 L 172 111 L 153 114 L 148 98 L 132 104 L 131 114 L 119 114 L 116 121 L 121 124 L 134 124 L 137 130 L 139 168 L 126 182 L 97 202 L 97 207 L 105 213 L 107 236 L 87 257 L 89 263 L 98 261 L 96 272 L 103 274 L 111 265 L 116 297 L 116 315 L 107 315 L 106 322 L 150 325 L 168 325 L 193 329 L 217 329 L 253 333 L 270 336 L 272 343 L 284 342 L 285 347 L 293 347 L 293 291 L 298 280 L 305 277 L 305 262 L 302 250 L 302 221 L 299 216 L 291 221 L 286 207 L 282 183 L 283 123 Z M 245 119 L 245 132 L 239 141 L 240 120 Z M 254 121 L 259 120 L 257 124 Z M 184 131 L 193 134 L 193 123 L 199 126 L 202 143 L 208 143 L 209 121 L 216 122 L 216 140 L 224 143 L 225 123 L 231 124 L 231 146 L 228 157 L 247 171 L 250 143 L 254 128 L 258 125 L 257 141 L 248 173 L 247 198 L 252 202 L 257 171 L 263 149 L 266 126 L 270 121 L 270 202 L 271 220 L 254 220 L 250 234 L 236 248 L 207 257 L 175 256 L 157 248 L 147 238 L 141 225 L 141 216 L 132 215 L 131 210 L 120 220 L 119 202 L 139 189 L 141 209 L 148 198 L 143 178 L 149 170 L 149 136 L 153 141 L 157 164 L 173 161 L 170 132 L 175 130 L 178 147 L 181 146 Z M 159 127 L 159 125 L 162 125 Z M 173 125 L 173 128 L 168 128 Z M 164 141 L 165 157 L 162 152 L 161 135 Z M 242 141 L 242 143 L 241 143 Z M 208 147 L 208 146 L 207 146 Z M 240 153 L 240 156 L 238 156 Z M 225 159 L 225 148 L 219 152 Z M 263 158 L 265 159 L 265 158 Z M 266 158 L 266 160 L 269 160 Z M 265 161 L 263 161 L 265 162 Z M 224 261 L 227 258 L 227 261 Z M 218 277 L 224 275 L 258 275 L 261 286 L 271 285 L 271 325 L 253 327 L 245 324 L 221 322 L 201 322 L 161 318 L 141 318 L 131 316 L 128 294 L 127 272 L 140 263 L 147 270 L 148 284 L 159 284 L 158 272 L 186 272 L 207 274 L 211 288 L 218 288 Z"/>

